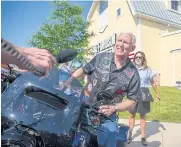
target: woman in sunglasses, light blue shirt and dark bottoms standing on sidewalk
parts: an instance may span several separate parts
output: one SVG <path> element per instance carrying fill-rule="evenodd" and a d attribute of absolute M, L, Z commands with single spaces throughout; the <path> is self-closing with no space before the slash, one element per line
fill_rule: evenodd
<path fill-rule="evenodd" d="M 149 91 L 150 84 L 152 85 L 158 100 L 160 100 L 160 96 L 158 94 L 157 85 L 154 80 L 154 74 L 151 68 L 147 66 L 145 54 L 141 51 L 137 52 L 134 56 L 133 62 L 138 68 L 141 79 L 142 100 L 139 101 L 135 106 L 135 108 L 130 111 L 130 118 L 129 118 L 130 135 L 128 138 L 128 143 L 130 143 L 132 140 L 132 131 L 135 124 L 136 113 L 139 113 L 140 128 L 141 128 L 141 143 L 144 146 L 147 146 L 148 143 L 145 139 L 146 114 L 150 112 L 150 102 L 153 101 L 153 97 Z"/>

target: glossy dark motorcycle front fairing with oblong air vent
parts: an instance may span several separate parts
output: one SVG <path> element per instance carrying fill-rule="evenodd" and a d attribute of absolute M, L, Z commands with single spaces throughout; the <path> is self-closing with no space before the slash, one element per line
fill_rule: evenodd
<path fill-rule="evenodd" d="M 2 94 L 2 116 L 39 131 L 69 132 L 78 119 L 84 97 L 83 86 L 76 79 L 61 88 L 70 76 L 57 69 L 43 78 L 24 73 Z"/>

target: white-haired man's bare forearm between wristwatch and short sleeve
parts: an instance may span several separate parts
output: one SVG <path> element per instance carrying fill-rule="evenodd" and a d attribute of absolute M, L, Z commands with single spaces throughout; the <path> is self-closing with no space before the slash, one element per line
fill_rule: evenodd
<path fill-rule="evenodd" d="M 136 105 L 134 100 L 126 100 L 122 103 L 117 104 L 118 111 L 127 111 L 132 109 Z"/>

